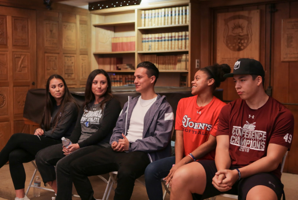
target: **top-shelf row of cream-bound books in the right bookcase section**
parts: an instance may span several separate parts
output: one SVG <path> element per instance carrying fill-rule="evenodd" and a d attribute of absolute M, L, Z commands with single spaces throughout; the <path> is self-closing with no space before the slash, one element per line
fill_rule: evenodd
<path fill-rule="evenodd" d="M 142 10 L 142 27 L 178 25 L 189 23 L 189 6 Z"/>

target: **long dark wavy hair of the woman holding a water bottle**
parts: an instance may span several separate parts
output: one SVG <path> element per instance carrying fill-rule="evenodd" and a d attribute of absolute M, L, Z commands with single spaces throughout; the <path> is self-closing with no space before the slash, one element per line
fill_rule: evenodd
<path fill-rule="evenodd" d="M 92 84 L 93 84 L 93 79 L 98 74 L 103 74 L 104 76 L 106 76 L 107 81 L 108 81 L 108 88 L 107 88 L 106 93 L 104 94 L 105 98 L 101 102 L 101 109 L 103 109 L 106 102 L 110 101 L 110 99 L 113 98 L 112 89 L 111 89 L 111 79 L 109 77 L 109 74 L 103 69 L 95 69 L 89 74 L 87 83 L 86 83 L 86 88 L 85 88 L 85 102 L 83 104 L 83 107 L 86 106 L 88 110 L 90 109 L 90 103 L 93 103 L 95 101 L 95 95 L 92 92 Z M 98 102 L 98 100 L 99 100 L 99 98 L 97 99 L 97 102 Z M 98 102 L 98 103 L 100 103 L 100 102 Z"/>

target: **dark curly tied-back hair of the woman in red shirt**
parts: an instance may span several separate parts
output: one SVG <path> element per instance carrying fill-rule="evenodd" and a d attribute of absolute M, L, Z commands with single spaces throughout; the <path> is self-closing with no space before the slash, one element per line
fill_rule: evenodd
<path fill-rule="evenodd" d="M 200 70 L 207 74 L 208 79 L 214 79 L 214 83 L 212 84 L 213 90 L 220 87 L 221 82 L 226 80 L 224 75 L 231 72 L 231 68 L 228 64 L 219 65 L 217 63 L 212 66 L 204 67 Z"/>

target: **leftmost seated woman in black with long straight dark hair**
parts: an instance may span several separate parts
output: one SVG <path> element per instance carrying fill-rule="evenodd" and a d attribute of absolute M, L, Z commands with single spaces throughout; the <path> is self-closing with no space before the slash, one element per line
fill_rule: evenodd
<path fill-rule="evenodd" d="M 70 94 L 62 76 L 53 74 L 48 78 L 46 87 L 46 106 L 41 128 L 34 135 L 13 134 L 0 152 L 0 168 L 9 161 L 9 169 L 14 185 L 15 200 L 28 200 L 25 196 L 26 173 L 23 163 L 35 159 L 36 153 L 61 142 L 68 137 L 75 125 L 78 105 Z M 1 189 L 0 189 L 1 190 Z"/>

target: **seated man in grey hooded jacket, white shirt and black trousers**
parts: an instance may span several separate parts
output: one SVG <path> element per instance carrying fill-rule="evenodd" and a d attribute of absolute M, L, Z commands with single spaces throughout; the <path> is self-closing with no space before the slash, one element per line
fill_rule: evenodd
<path fill-rule="evenodd" d="M 141 95 L 128 96 L 110 139 L 111 148 L 96 150 L 72 162 L 71 175 L 83 200 L 93 200 L 88 176 L 118 171 L 114 199 L 129 200 L 134 181 L 147 165 L 171 155 L 170 139 L 174 114 L 165 96 L 156 94 L 158 69 L 150 62 L 137 65 L 135 90 Z"/>

